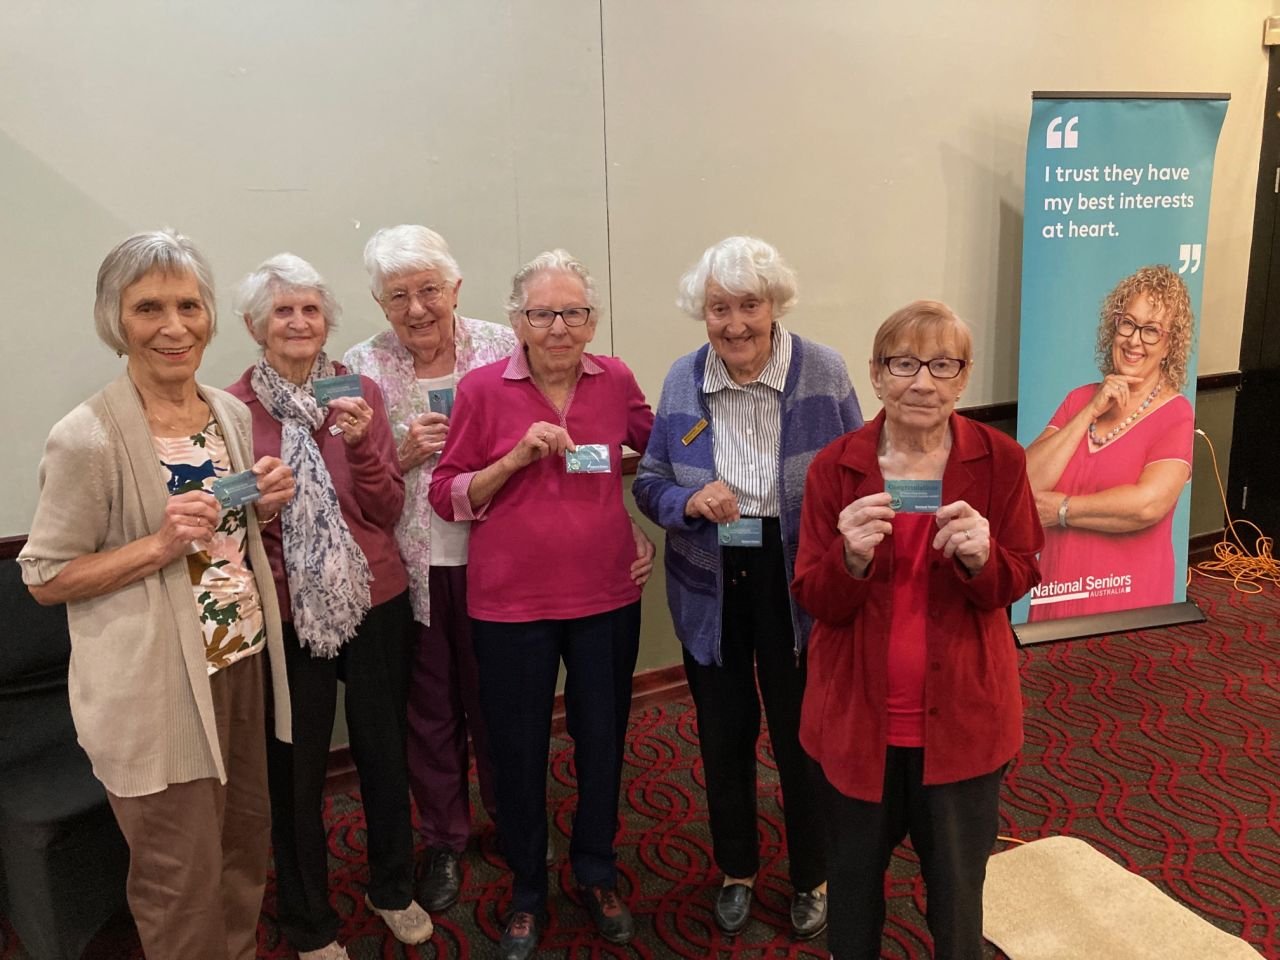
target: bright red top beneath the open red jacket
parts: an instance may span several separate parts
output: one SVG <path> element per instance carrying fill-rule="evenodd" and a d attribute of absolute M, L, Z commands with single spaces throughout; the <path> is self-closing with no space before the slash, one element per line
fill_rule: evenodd
<path fill-rule="evenodd" d="M 893 611 L 888 630 L 888 742 L 924 746 L 924 664 L 929 621 L 929 554 L 938 525 L 932 513 L 899 513 L 887 544 L 893 553 Z M 882 548 L 883 549 L 883 548 Z"/>

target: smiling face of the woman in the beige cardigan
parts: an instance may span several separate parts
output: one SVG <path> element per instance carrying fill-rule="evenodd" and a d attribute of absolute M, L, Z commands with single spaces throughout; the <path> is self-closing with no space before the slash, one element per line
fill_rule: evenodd
<path fill-rule="evenodd" d="M 193 274 L 152 270 L 120 296 L 129 374 L 140 388 L 193 383 L 209 343 L 210 321 Z"/>

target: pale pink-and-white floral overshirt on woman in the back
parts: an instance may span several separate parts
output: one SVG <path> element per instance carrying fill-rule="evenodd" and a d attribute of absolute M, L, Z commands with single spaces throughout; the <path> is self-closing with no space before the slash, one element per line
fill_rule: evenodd
<path fill-rule="evenodd" d="M 453 372 L 457 379 L 477 366 L 506 360 L 516 349 L 516 334 L 509 326 L 467 316 L 453 317 Z M 429 412 L 426 392 L 419 389 L 413 357 L 399 342 L 394 330 L 383 330 L 347 351 L 342 358 L 352 372 L 364 374 L 383 388 L 387 416 L 397 447 L 417 417 Z M 431 504 L 426 499 L 431 489 L 431 471 L 440 462 L 440 454 L 426 460 L 404 474 L 404 512 L 396 525 L 404 567 L 408 570 L 408 593 L 413 602 L 413 620 L 430 623 L 431 605 L 428 596 L 428 573 L 431 567 Z"/>

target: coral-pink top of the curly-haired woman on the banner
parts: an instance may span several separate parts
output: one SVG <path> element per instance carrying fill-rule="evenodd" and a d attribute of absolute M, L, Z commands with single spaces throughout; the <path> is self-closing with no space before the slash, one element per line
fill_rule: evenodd
<path fill-rule="evenodd" d="M 1097 389 L 1097 384 L 1087 384 L 1071 390 L 1048 425 L 1065 426 Z M 1164 460 L 1185 463 L 1190 480 L 1194 430 L 1196 411 L 1185 397 L 1175 394 L 1101 449 L 1089 449 L 1089 438 L 1083 436 L 1053 489 L 1075 495 L 1134 484 L 1149 463 Z M 1172 509 L 1151 526 L 1128 534 L 1047 527 L 1041 553 L 1044 579 L 1032 593 L 1028 620 L 1172 603 L 1176 581 L 1172 531 Z"/>

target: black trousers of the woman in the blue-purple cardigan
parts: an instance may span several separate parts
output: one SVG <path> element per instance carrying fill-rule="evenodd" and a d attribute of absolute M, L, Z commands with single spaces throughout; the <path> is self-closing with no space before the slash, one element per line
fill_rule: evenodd
<path fill-rule="evenodd" d="M 760 548 L 722 548 L 723 663 L 703 666 L 686 650 L 685 676 L 698 708 L 716 865 L 728 877 L 760 868 L 755 744 L 763 699 L 782 782 L 791 886 L 809 891 L 827 879 L 827 867 L 814 764 L 800 746 L 805 657 L 795 653 L 778 521 L 765 518 L 763 532 Z"/>

